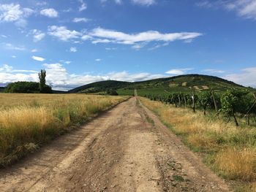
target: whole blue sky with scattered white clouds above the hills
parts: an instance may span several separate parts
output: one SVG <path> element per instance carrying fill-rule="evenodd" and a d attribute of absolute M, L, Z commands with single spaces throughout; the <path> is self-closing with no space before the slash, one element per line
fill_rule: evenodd
<path fill-rule="evenodd" d="M 256 87 L 256 0 L 0 0 L 0 86 L 210 74 Z"/>

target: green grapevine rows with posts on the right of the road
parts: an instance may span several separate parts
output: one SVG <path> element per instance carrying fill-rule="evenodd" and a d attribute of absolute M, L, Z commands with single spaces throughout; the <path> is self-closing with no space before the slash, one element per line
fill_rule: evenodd
<path fill-rule="evenodd" d="M 239 121 L 248 126 L 256 125 L 256 93 L 246 90 L 230 89 L 221 93 L 192 91 L 192 93 L 146 94 L 145 96 L 153 101 L 172 104 L 173 107 L 191 108 L 192 112 L 203 110 L 204 115 L 208 112 L 227 122 L 233 119 L 236 126 L 241 126 Z"/>

